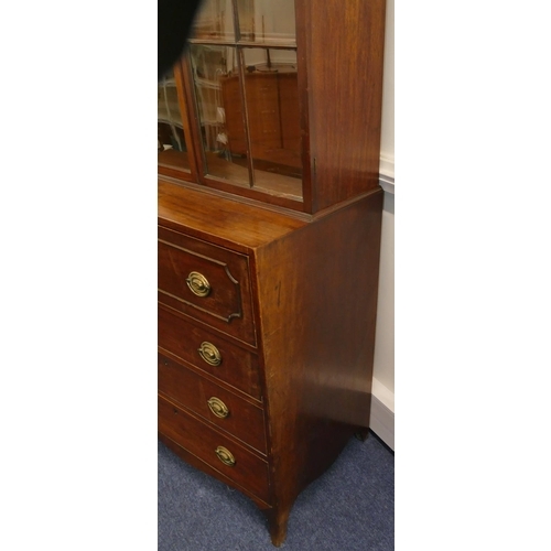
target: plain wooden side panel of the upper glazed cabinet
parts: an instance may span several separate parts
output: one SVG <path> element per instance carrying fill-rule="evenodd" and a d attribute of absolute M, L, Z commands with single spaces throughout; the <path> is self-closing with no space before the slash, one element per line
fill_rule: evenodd
<path fill-rule="evenodd" d="M 309 86 L 314 210 L 378 185 L 385 0 L 311 8 Z"/>

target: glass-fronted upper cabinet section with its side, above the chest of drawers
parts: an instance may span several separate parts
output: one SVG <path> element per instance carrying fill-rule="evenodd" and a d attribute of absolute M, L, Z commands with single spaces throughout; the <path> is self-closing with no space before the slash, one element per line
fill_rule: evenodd
<path fill-rule="evenodd" d="M 385 0 L 204 0 L 160 172 L 315 214 L 378 187 Z"/>

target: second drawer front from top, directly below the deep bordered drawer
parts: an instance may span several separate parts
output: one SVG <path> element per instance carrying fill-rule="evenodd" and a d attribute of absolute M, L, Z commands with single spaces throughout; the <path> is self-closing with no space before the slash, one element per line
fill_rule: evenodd
<path fill-rule="evenodd" d="M 258 357 L 159 307 L 158 342 L 161 348 L 182 358 L 247 395 L 261 399 Z"/>

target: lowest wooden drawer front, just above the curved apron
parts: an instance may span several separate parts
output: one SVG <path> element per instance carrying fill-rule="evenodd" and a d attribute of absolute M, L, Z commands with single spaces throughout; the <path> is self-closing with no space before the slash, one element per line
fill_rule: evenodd
<path fill-rule="evenodd" d="M 159 432 L 269 503 L 267 462 L 161 397 L 159 397 Z M 220 457 L 235 463 L 228 465 Z"/>

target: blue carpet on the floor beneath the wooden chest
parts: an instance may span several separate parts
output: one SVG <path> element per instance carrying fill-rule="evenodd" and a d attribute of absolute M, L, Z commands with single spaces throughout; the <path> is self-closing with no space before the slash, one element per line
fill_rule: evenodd
<path fill-rule="evenodd" d="M 390 551 L 395 456 L 372 433 L 350 439 L 296 499 L 289 551 Z M 274 551 L 263 515 L 238 490 L 186 465 L 159 443 L 159 551 Z"/>

